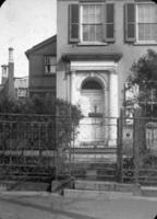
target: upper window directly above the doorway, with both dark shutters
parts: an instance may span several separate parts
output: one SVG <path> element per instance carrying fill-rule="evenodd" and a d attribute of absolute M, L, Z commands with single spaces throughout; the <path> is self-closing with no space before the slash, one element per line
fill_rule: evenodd
<path fill-rule="evenodd" d="M 70 43 L 114 42 L 114 4 L 70 4 Z"/>

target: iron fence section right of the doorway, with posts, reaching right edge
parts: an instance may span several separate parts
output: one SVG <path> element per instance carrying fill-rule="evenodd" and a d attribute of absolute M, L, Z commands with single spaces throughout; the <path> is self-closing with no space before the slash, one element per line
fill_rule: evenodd
<path fill-rule="evenodd" d="M 157 185 L 157 118 L 136 110 L 132 118 L 121 114 L 118 124 L 119 181 Z"/>

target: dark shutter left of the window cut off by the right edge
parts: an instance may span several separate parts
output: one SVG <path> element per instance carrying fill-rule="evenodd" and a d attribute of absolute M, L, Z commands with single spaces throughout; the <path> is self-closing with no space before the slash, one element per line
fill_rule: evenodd
<path fill-rule="evenodd" d="M 124 5 L 124 37 L 125 42 L 135 42 L 135 4 Z"/>

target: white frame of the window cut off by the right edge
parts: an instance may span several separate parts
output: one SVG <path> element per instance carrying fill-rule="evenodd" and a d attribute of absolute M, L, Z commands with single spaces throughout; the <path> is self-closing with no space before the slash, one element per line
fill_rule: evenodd
<path fill-rule="evenodd" d="M 157 44 L 157 41 L 138 41 L 138 25 L 137 25 L 137 23 L 138 23 L 138 20 L 137 20 L 137 18 L 138 18 L 138 5 L 140 4 L 154 4 L 155 5 L 155 3 L 153 3 L 153 2 L 140 2 L 140 3 L 136 3 L 136 14 L 135 14 L 135 30 L 136 30 L 136 43 L 137 44 Z"/>

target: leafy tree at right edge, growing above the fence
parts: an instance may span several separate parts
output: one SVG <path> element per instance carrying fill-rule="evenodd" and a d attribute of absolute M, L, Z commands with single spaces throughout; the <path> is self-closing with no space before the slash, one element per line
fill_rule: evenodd
<path fill-rule="evenodd" d="M 145 116 L 157 116 L 157 53 L 155 50 L 148 49 L 133 62 L 126 83 L 126 92 L 138 87 L 138 93 L 124 104 L 137 103 L 144 110 Z"/>

